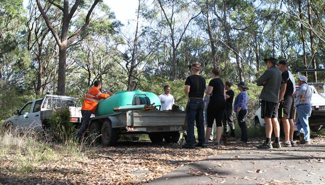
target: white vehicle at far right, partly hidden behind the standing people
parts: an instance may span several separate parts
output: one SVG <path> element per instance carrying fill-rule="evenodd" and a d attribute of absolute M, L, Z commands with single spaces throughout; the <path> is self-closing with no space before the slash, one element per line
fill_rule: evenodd
<path fill-rule="evenodd" d="M 318 93 L 313 85 L 309 85 L 312 89 L 311 96 L 311 116 L 309 117 L 309 127 L 312 131 L 318 131 L 325 128 L 325 93 Z M 295 86 L 296 91 L 299 90 L 299 86 Z M 325 89 L 325 88 L 324 88 Z M 265 126 L 264 119 L 260 117 L 261 108 L 256 110 L 254 115 L 254 124 Z M 294 109 L 294 124 L 296 118 L 296 111 Z M 296 129 L 296 128 L 295 128 Z"/>

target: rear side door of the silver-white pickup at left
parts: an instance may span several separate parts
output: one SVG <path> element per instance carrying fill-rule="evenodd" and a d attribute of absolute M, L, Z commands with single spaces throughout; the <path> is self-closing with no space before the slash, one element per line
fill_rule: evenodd
<path fill-rule="evenodd" d="M 29 127 L 36 131 L 42 130 L 41 120 L 40 120 L 40 105 L 42 99 L 36 100 L 32 106 L 32 111 L 28 113 Z"/>

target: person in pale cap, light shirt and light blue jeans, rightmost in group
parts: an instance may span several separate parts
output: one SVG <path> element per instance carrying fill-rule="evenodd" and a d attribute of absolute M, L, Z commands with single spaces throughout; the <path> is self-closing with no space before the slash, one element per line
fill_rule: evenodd
<path fill-rule="evenodd" d="M 310 144 L 308 117 L 311 114 L 311 95 L 312 91 L 307 84 L 306 76 L 298 77 L 299 91 L 294 93 L 294 105 L 297 111 L 297 130 L 299 132 L 300 144 Z"/>

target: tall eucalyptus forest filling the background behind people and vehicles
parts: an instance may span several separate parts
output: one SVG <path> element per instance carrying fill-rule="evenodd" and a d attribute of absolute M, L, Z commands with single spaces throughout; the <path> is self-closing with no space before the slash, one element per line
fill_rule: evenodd
<path fill-rule="evenodd" d="M 122 24 L 101 0 L 29 0 L 26 8 L 0 0 L 0 120 L 46 92 L 81 103 L 96 79 L 113 92 L 134 79 L 156 94 L 169 84 L 184 106 L 187 65 L 195 61 L 207 82 L 213 67 L 223 81 L 247 82 L 252 100 L 264 57 L 286 59 L 295 76 L 324 68 L 323 0 L 137 2 L 134 19 Z M 305 75 L 325 80 L 325 72 Z"/>

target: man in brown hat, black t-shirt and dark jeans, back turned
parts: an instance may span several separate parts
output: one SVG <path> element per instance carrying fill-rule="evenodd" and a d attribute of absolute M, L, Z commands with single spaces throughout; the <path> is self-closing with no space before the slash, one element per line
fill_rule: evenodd
<path fill-rule="evenodd" d="M 186 105 L 186 144 L 182 148 L 194 148 L 194 121 L 197 128 L 198 144 L 204 147 L 204 118 L 203 118 L 203 94 L 205 88 L 205 79 L 199 74 L 202 69 L 199 63 L 195 62 L 189 65 L 192 75 L 188 76 L 185 81 L 184 92 L 188 94 Z"/>

